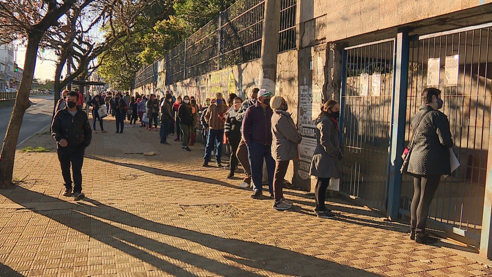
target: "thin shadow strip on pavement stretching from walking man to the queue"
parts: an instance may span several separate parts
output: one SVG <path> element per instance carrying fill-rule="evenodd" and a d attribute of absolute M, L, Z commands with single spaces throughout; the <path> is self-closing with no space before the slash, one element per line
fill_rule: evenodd
<path fill-rule="evenodd" d="M 118 161 L 114 161 L 114 160 L 108 160 L 108 159 L 96 157 L 93 155 L 87 155 L 86 154 L 85 157 L 90 158 L 90 159 L 94 159 L 94 160 L 98 160 L 98 161 L 102 161 L 102 162 L 112 163 L 115 165 L 126 166 L 126 167 L 130 167 L 133 169 L 142 170 L 142 171 L 152 173 L 155 175 L 159 175 L 159 176 L 172 177 L 172 178 L 178 178 L 178 179 L 187 179 L 187 180 L 193 180 L 193 181 L 198 181 L 198 182 L 206 182 L 206 183 L 211 183 L 211 184 L 223 185 L 223 186 L 227 186 L 227 187 L 231 187 L 231 188 L 237 188 L 236 185 L 232 185 L 230 183 L 219 181 L 217 179 L 201 177 L 201 176 L 185 174 L 185 173 L 178 173 L 178 172 L 174 172 L 174 171 L 169 171 L 169 170 L 164 170 L 164 169 L 159 169 L 159 168 L 154 168 L 154 167 L 148 167 L 148 166 L 139 165 L 139 164 L 118 162 Z"/>

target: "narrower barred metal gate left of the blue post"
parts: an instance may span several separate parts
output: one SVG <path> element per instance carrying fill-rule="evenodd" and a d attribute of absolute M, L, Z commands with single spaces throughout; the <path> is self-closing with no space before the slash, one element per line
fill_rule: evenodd
<path fill-rule="evenodd" d="M 384 209 L 394 40 L 345 48 L 340 191 Z"/>

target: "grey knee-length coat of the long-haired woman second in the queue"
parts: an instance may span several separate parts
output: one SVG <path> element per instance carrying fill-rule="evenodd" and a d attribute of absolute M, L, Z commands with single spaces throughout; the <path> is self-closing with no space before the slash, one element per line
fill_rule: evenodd
<path fill-rule="evenodd" d="M 340 178 L 340 144 L 335 122 L 324 114 L 316 120 L 316 148 L 309 175 L 320 178 Z"/>

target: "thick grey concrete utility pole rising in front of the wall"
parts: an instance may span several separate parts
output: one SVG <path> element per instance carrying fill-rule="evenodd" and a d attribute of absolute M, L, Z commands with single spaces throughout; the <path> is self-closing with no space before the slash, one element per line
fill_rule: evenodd
<path fill-rule="evenodd" d="M 275 93 L 279 29 L 280 0 L 265 0 L 259 81 L 261 88 L 272 93 Z"/>

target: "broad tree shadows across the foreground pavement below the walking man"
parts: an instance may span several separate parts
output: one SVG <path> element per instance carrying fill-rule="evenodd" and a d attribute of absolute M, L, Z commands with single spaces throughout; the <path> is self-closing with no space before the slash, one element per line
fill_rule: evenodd
<path fill-rule="evenodd" d="M 196 269 L 191 268 L 192 271 L 188 271 L 190 268 L 185 268 L 186 264 L 226 276 L 260 275 L 260 272 L 255 272 L 258 270 L 268 270 L 277 274 L 287 275 L 330 275 L 346 272 L 348 275 L 378 276 L 371 272 L 283 248 L 224 238 L 157 223 L 93 199 L 87 198 L 86 201 L 67 202 L 20 186 L 13 190 L 0 190 L 0 193 L 20 205 L 29 203 L 29 209 L 32 212 L 44 215 L 150 263 L 163 271 L 178 276 L 195 276 L 192 272 L 195 272 Z M 54 206 L 58 204 L 58 207 L 62 206 L 62 209 L 44 208 L 43 210 L 43 205 L 46 205 L 46 203 L 35 203 L 35 199 L 40 197 L 44 199 L 48 197 L 48 202 L 51 205 L 53 203 Z M 34 204 L 33 207 L 31 206 L 32 204 Z M 161 237 L 162 239 L 159 241 L 120 228 L 114 223 L 156 232 L 171 238 Z M 171 241 L 175 240 L 178 245 L 188 245 L 182 239 L 198 243 L 202 247 L 220 251 L 222 252 L 222 257 L 220 257 L 220 254 L 213 254 L 213 259 L 208 258 L 205 255 L 210 252 L 209 250 L 202 249 L 202 252 L 194 253 L 171 244 Z M 159 256 L 167 256 L 170 259 L 159 258 L 153 253 L 157 253 Z M 229 256 L 232 257 L 229 259 Z"/>

